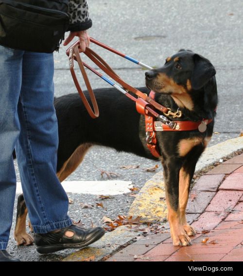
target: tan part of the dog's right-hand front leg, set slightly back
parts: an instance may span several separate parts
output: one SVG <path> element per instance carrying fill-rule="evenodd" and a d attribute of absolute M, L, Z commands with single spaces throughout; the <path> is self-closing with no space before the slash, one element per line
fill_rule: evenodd
<path fill-rule="evenodd" d="M 190 175 L 181 168 L 179 173 L 179 207 L 180 207 L 180 220 L 183 225 L 183 229 L 188 236 L 195 236 L 196 232 L 190 225 L 187 224 L 186 208 L 189 196 L 190 188 Z"/>

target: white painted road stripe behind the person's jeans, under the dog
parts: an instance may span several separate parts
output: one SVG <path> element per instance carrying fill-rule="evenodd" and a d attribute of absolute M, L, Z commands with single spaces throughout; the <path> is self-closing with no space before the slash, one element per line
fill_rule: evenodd
<path fill-rule="evenodd" d="M 66 192 L 116 195 L 131 192 L 132 181 L 63 181 L 62 186 Z M 21 183 L 17 182 L 17 193 L 22 193 Z"/>

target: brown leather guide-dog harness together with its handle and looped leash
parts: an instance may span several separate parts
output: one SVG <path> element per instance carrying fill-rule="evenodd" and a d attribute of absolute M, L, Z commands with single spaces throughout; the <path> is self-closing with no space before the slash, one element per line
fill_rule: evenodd
<path fill-rule="evenodd" d="M 94 40 L 94 39 L 92 39 Z M 94 41 L 92 41 L 94 42 Z M 94 42 L 95 43 L 95 42 Z M 100 42 L 99 42 L 100 43 Z M 96 43 L 97 44 L 97 43 Z M 99 44 L 98 44 L 99 45 Z M 101 45 L 100 45 L 101 46 Z M 103 44 L 104 47 L 106 45 Z M 106 46 L 108 47 L 108 46 Z M 147 146 L 156 158 L 159 158 L 161 155 L 159 153 L 159 149 L 157 147 L 157 140 L 156 140 L 156 131 L 188 131 L 188 130 L 199 130 L 200 132 L 205 132 L 207 129 L 207 124 L 210 123 L 212 120 L 203 120 L 198 122 L 193 121 L 171 121 L 168 118 L 166 118 L 163 115 L 159 115 L 155 110 L 159 110 L 163 112 L 165 115 L 170 116 L 174 115 L 174 118 L 180 118 L 182 116 L 181 111 L 177 111 L 175 113 L 171 112 L 170 108 L 166 108 L 161 104 L 158 104 L 155 102 L 155 92 L 151 91 L 150 95 L 147 96 L 147 94 L 142 93 L 138 89 L 134 88 L 133 86 L 128 85 L 125 83 L 120 76 L 114 72 L 114 70 L 102 59 L 96 52 L 91 50 L 90 48 L 86 47 L 86 51 L 84 52 L 89 59 L 91 59 L 100 69 L 102 69 L 108 76 L 110 76 L 113 80 L 115 80 L 117 83 L 119 83 L 124 89 L 122 89 L 120 86 L 115 85 L 113 82 L 109 81 L 107 78 L 102 76 L 99 72 L 97 72 L 95 69 L 88 66 L 86 63 L 82 62 L 82 59 L 80 57 L 79 53 L 79 41 L 75 42 L 67 51 L 66 53 L 69 55 L 69 66 L 70 71 L 73 77 L 74 84 L 79 92 L 79 95 L 81 99 L 83 100 L 87 111 L 89 115 L 95 119 L 99 116 L 99 109 L 98 105 L 93 93 L 93 90 L 90 86 L 87 73 L 84 69 L 84 66 L 87 67 L 87 69 L 91 70 L 101 78 L 103 78 L 106 82 L 111 84 L 112 86 L 115 86 L 118 90 L 120 90 L 123 94 L 125 94 L 127 97 L 129 97 L 131 100 L 136 102 L 136 108 L 137 111 L 145 116 L 145 123 L 146 123 L 146 141 Z M 105 48 L 105 47 L 104 47 Z M 110 48 L 110 47 L 109 47 Z M 110 48 L 112 49 L 112 48 Z M 107 49 L 109 50 L 109 49 Z M 112 49 L 114 50 L 114 49 Z M 109 50 L 111 51 L 111 50 Z M 114 50 L 116 51 L 116 50 Z M 111 52 L 114 52 L 111 51 Z M 121 55 L 121 54 L 120 54 Z M 90 99 L 94 108 L 94 111 L 90 107 L 75 74 L 74 71 L 74 60 L 78 62 L 79 68 L 82 72 L 85 84 L 87 86 L 87 90 L 90 95 Z M 138 98 L 132 96 L 128 93 L 132 92 L 135 95 L 138 96 Z M 155 118 L 158 120 L 156 121 Z"/>

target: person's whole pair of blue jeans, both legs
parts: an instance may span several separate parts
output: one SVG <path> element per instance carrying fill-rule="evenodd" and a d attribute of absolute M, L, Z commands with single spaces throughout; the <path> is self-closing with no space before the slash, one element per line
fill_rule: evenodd
<path fill-rule="evenodd" d="M 34 232 L 72 224 L 67 194 L 56 177 L 53 73 L 53 54 L 0 46 L 0 250 L 7 247 L 13 219 L 14 148 Z"/>

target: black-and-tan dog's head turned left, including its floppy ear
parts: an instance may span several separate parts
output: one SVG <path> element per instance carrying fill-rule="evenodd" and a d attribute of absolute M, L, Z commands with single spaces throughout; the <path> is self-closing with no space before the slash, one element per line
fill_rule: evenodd
<path fill-rule="evenodd" d="M 199 90 L 216 74 L 205 57 L 180 50 L 166 59 L 163 67 L 145 73 L 146 86 L 163 94 L 183 94 Z"/>

